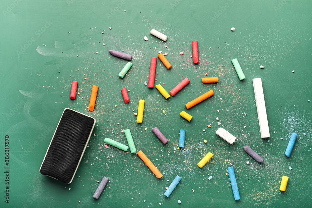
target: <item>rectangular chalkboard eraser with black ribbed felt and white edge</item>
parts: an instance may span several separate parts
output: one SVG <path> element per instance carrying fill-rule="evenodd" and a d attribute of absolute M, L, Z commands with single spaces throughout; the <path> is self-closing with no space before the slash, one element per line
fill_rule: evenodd
<path fill-rule="evenodd" d="M 40 173 L 71 183 L 94 126 L 94 118 L 66 108 L 46 151 Z"/>

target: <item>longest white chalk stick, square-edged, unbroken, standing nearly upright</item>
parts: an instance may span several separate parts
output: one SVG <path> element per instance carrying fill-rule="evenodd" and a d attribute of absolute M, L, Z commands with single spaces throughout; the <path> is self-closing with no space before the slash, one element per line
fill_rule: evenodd
<path fill-rule="evenodd" d="M 261 78 L 256 78 L 252 80 L 252 83 L 253 83 L 254 91 L 255 91 L 261 138 L 268 138 L 270 137 L 270 131 L 269 131 L 269 124 L 268 124 L 268 117 L 266 115 L 266 103 L 264 101 L 262 80 Z"/>

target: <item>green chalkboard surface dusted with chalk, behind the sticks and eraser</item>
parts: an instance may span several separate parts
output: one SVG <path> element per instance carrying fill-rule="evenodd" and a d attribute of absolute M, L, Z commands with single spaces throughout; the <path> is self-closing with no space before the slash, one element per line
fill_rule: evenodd
<path fill-rule="evenodd" d="M 312 206 L 311 7 L 310 1 L 291 0 L 1 1 L 1 206 Z M 152 28 L 168 40 L 150 35 Z M 191 58 L 193 40 L 198 41 L 198 65 Z M 108 50 L 124 50 L 133 56 L 133 66 L 123 79 L 117 75 L 127 61 L 111 56 Z M 167 100 L 157 89 L 144 85 L 150 60 L 158 51 L 168 53 L 172 69 L 167 70 L 158 59 L 155 85 L 170 91 L 185 77 L 191 80 Z M 243 81 L 233 69 L 234 58 L 246 76 Z M 206 73 L 219 77 L 219 83 L 202 84 Z M 260 136 L 252 85 L 252 79 L 259 77 L 271 134 L 267 139 Z M 79 83 L 76 100 L 69 98 L 72 81 Z M 92 85 L 99 86 L 99 91 L 95 110 L 90 112 Z M 120 92 L 125 86 L 130 90 L 129 104 Z M 211 98 L 185 108 L 210 89 L 215 92 Z M 145 100 L 145 109 L 143 123 L 138 124 L 134 112 L 140 99 Z M 39 172 L 65 108 L 96 119 L 95 136 L 71 184 Z M 191 122 L 180 117 L 183 110 L 193 116 Z M 152 133 L 154 127 L 166 135 L 167 145 Z M 233 145 L 216 135 L 218 127 L 237 137 Z M 162 179 L 129 150 L 104 147 L 106 137 L 127 144 L 121 133 L 127 128 L 137 150 L 143 150 L 163 173 Z M 179 129 L 186 130 L 185 148 L 174 150 Z M 288 158 L 284 152 L 292 132 L 298 138 Z M 6 135 L 9 156 L 5 155 Z M 263 164 L 248 156 L 244 145 L 261 155 Z M 197 167 L 207 152 L 214 156 L 204 167 Z M 226 175 L 231 164 L 239 201 L 234 200 Z M 4 173 L 7 170 L 9 176 Z M 167 198 L 163 194 L 176 175 L 182 179 Z M 285 192 L 279 191 L 283 175 L 289 177 Z M 103 176 L 110 182 L 95 200 L 92 195 Z M 5 202 L 7 190 L 9 204 Z"/>

